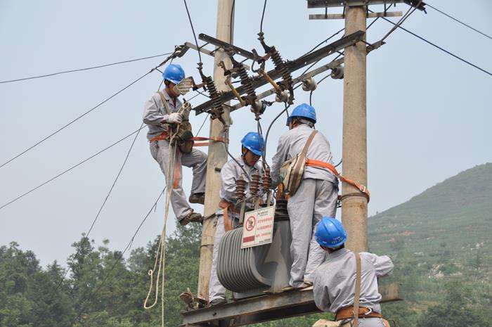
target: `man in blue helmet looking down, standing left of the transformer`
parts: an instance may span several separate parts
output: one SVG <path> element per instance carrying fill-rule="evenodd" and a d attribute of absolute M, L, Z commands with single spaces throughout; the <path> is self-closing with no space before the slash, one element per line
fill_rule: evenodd
<path fill-rule="evenodd" d="M 264 151 L 264 140 L 256 132 L 247 133 L 241 140 L 241 153 L 238 158 L 231 159 L 221 168 L 222 186 L 220 191 L 221 202 L 216 211 L 216 231 L 214 238 L 214 252 L 212 253 L 212 271 L 209 280 L 209 304 L 211 306 L 226 302 L 226 288 L 217 277 L 217 257 L 219 257 L 219 243 L 226 231 L 239 224 L 240 210 L 237 208 L 238 198 L 235 195 L 235 181 L 245 180 L 245 195 L 250 197 L 250 179 L 254 173 L 261 175 L 261 167 L 257 164 Z M 247 177 L 245 177 L 247 172 Z M 252 209 L 246 203 L 248 209 Z"/>

